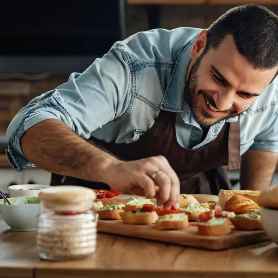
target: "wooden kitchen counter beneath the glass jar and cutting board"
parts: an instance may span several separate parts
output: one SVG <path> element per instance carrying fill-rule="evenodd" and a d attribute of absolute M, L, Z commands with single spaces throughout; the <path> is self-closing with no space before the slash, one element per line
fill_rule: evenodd
<path fill-rule="evenodd" d="M 11 231 L 0 223 L 0 277 L 278 277 L 278 246 L 270 241 L 207 251 L 98 234 L 97 251 L 91 257 L 49 262 L 38 257 L 35 237 L 36 232 Z"/>

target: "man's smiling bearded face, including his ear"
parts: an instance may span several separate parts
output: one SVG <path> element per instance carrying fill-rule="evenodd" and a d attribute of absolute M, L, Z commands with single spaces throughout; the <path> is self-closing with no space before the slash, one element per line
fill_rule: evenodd
<path fill-rule="evenodd" d="M 206 34 L 201 33 L 191 50 L 194 64 L 189 68 L 187 93 L 196 121 L 208 127 L 248 109 L 269 85 L 278 67 L 255 70 L 239 54 L 231 35 L 217 49 L 210 48 L 202 55 L 202 36 L 205 41 Z"/>

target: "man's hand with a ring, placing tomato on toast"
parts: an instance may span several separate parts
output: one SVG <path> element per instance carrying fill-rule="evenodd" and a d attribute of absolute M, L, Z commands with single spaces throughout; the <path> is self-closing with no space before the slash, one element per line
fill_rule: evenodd
<path fill-rule="evenodd" d="M 155 179 L 152 175 L 161 171 Z M 147 198 L 157 198 L 165 209 L 180 204 L 180 182 L 175 171 L 163 156 L 111 164 L 105 171 L 104 183 L 117 191 L 131 191 Z"/>

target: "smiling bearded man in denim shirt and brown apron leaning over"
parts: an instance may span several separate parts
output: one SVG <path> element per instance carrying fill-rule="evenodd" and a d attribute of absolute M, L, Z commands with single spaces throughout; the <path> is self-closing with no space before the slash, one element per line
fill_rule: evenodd
<path fill-rule="evenodd" d="M 52 185 L 133 191 L 179 207 L 179 194 L 270 186 L 278 151 L 278 18 L 238 6 L 207 30 L 139 32 L 82 74 L 33 99 L 7 130 L 17 171 Z M 105 187 L 106 186 L 106 187 Z"/>

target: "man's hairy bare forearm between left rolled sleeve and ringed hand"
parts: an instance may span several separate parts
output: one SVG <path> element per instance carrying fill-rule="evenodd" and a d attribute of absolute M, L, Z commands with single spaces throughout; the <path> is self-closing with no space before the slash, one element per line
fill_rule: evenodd
<path fill-rule="evenodd" d="M 31 127 L 20 144 L 25 157 L 38 167 L 89 181 L 105 182 L 105 169 L 119 162 L 56 119 Z"/>

